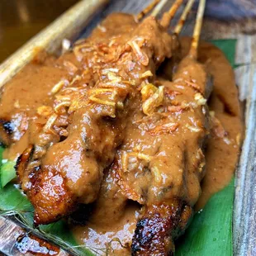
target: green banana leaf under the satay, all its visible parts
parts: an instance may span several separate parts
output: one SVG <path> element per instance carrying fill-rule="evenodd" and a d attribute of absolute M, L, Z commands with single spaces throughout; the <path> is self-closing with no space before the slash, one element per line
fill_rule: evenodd
<path fill-rule="evenodd" d="M 236 40 L 213 40 L 235 68 Z M 0 148 L 0 164 L 2 163 L 2 149 Z M 7 162 L 8 163 L 8 162 Z M 6 165 L 13 173 L 13 164 Z M 0 168 L 1 169 L 1 168 Z M 7 171 L 7 169 L 5 169 Z M 12 180 L 13 175 L 7 176 Z M 185 235 L 178 239 L 176 256 L 205 256 L 232 255 L 232 212 L 235 192 L 234 179 L 224 190 L 216 193 L 206 204 L 205 208 L 197 212 Z M 27 228 L 33 228 L 33 207 L 17 185 L 7 183 L 0 189 L 0 214 L 2 216 L 16 215 Z M 51 225 L 40 225 L 37 234 L 59 244 L 63 249 L 74 255 L 95 255 L 97 252 L 86 246 L 79 246 L 65 220 L 59 220 Z"/>

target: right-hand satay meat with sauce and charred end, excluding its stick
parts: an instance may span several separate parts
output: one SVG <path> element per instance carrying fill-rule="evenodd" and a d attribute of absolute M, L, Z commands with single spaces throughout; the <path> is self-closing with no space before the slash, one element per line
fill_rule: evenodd
<path fill-rule="evenodd" d="M 125 189 L 135 192 L 144 205 L 132 241 L 133 255 L 171 254 L 173 239 L 181 234 L 192 216 L 192 206 L 201 192 L 205 165 L 203 148 L 209 130 L 206 78 L 201 64 L 194 59 L 183 59 L 173 83 L 165 85 L 162 114 L 166 116 L 158 118 L 153 127 L 152 121 L 144 118 L 145 122 L 135 131 L 139 154 L 145 155 L 148 161 L 140 164 L 139 170 L 121 169 Z M 128 149 L 125 154 L 135 151 L 132 147 Z M 137 161 L 140 163 L 139 158 Z M 150 173 L 147 183 L 143 183 L 145 172 Z M 138 186 L 140 183 L 142 186 Z"/>

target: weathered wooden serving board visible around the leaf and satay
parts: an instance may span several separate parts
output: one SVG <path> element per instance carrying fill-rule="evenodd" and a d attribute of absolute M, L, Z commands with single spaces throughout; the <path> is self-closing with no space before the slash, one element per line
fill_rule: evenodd
<path fill-rule="evenodd" d="M 111 0 L 104 12 L 88 19 L 102 7 L 105 0 L 83 0 L 64 13 L 52 25 L 30 40 L 0 66 L 0 88 L 44 48 L 58 53 L 64 38 L 73 40 L 78 34 L 88 36 L 92 28 L 110 12 L 140 12 L 149 0 Z M 168 1 L 166 7 L 172 4 Z M 175 24 L 175 22 L 173 22 Z M 88 26 L 86 26 L 88 24 Z M 189 18 L 183 35 L 191 35 L 193 20 Z M 83 33 L 82 33 L 83 31 Z M 244 145 L 235 178 L 234 254 L 256 255 L 256 0 L 207 0 L 206 18 L 201 38 L 237 39 L 235 69 L 239 97 L 244 102 Z M 227 92 L 228 93 L 228 92 Z M 0 250 L 12 254 L 17 224 L 0 218 Z M 4 242 L 2 242 L 4 241 Z M 61 255 L 66 255 L 63 251 Z M 60 254 L 59 254 L 60 255 Z"/>

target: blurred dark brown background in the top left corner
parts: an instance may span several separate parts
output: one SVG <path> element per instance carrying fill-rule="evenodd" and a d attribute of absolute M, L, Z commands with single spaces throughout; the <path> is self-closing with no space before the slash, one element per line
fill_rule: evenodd
<path fill-rule="evenodd" d="M 76 2 L 0 0 L 0 63 Z"/>

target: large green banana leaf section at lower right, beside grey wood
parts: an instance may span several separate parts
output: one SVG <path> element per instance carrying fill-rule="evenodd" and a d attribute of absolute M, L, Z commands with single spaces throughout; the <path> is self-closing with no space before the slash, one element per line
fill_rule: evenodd
<path fill-rule="evenodd" d="M 179 239 L 176 256 L 232 255 L 234 179 L 197 212 Z M 210 253 L 211 252 L 211 253 Z"/>

